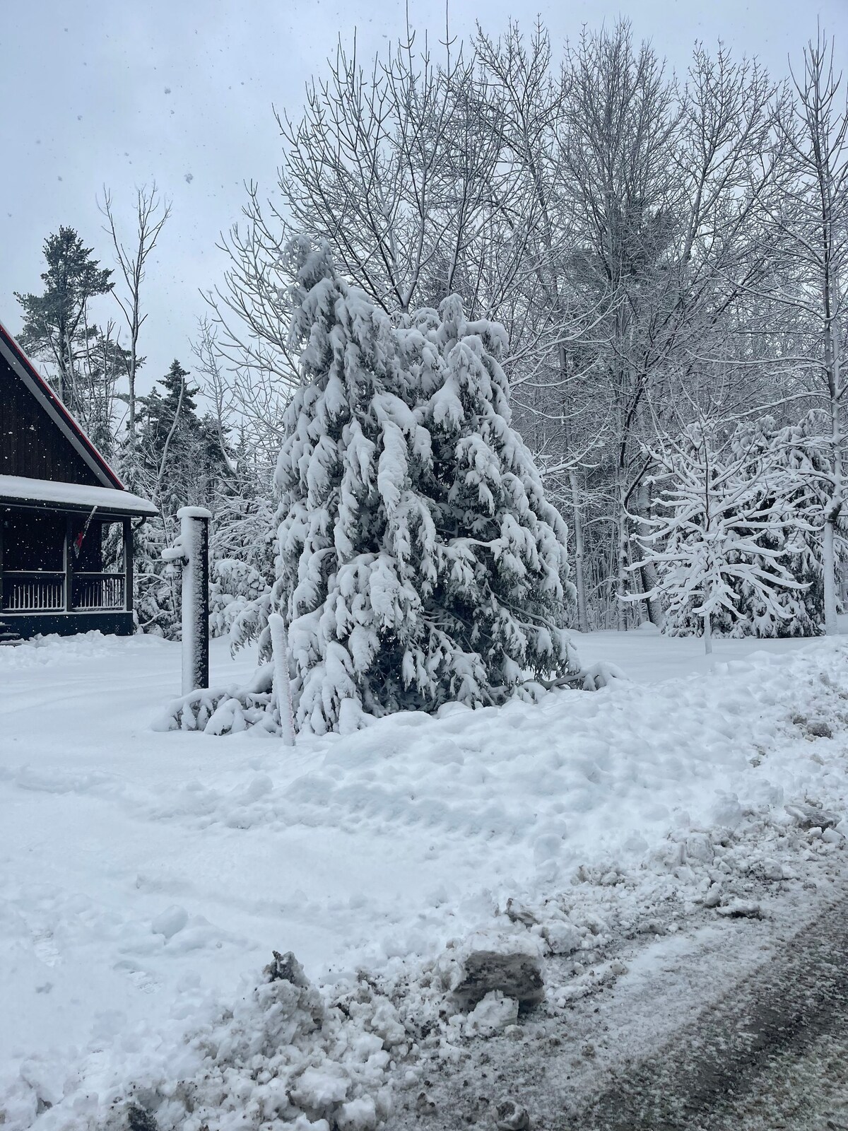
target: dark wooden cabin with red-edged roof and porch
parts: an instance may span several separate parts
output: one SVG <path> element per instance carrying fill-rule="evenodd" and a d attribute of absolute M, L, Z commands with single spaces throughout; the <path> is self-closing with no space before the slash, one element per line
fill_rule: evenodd
<path fill-rule="evenodd" d="M 132 528 L 155 513 L 0 323 L 0 641 L 129 636 Z"/>

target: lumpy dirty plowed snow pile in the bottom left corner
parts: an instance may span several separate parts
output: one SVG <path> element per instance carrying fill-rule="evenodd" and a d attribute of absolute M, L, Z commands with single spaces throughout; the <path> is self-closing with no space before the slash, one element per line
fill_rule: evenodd
<path fill-rule="evenodd" d="M 0 1110 L 3 1126 L 373 1131 L 390 1114 L 387 1069 L 406 1053 L 406 1031 L 366 984 L 330 1007 L 293 955 L 275 952 L 259 985 L 205 1012 L 184 1039 L 114 1034 L 111 1056 L 94 1052 L 63 1083 L 50 1057 L 33 1057 Z"/>

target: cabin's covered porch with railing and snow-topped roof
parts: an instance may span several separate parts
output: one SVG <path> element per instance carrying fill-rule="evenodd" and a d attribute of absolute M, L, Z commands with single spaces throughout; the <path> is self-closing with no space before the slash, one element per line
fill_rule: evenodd
<path fill-rule="evenodd" d="M 132 526 L 155 513 L 127 491 L 0 475 L 0 620 L 24 638 L 129 636 Z"/>

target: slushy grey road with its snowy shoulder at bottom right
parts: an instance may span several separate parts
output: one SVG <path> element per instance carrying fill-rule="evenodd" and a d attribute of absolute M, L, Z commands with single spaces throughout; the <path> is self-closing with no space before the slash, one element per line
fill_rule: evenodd
<path fill-rule="evenodd" d="M 412 1089 L 389 1126 L 494 1131 L 512 1100 L 530 1131 L 848 1131 L 848 883 L 763 912 L 624 943 L 625 973 L 564 1013 L 434 1054 L 429 1104 Z"/>

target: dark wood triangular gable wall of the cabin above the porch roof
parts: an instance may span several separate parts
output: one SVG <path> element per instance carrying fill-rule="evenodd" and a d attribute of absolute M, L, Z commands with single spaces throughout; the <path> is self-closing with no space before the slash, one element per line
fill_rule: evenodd
<path fill-rule="evenodd" d="M 90 467 L 2 356 L 0 475 L 99 485 Z"/>

